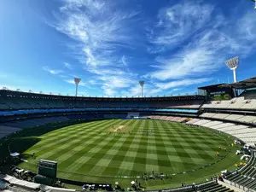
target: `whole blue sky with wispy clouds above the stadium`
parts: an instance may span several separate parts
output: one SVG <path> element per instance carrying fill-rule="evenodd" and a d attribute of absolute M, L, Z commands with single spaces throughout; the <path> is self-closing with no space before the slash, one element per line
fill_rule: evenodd
<path fill-rule="evenodd" d="M 256 76 L 250 0 L 1 0 L 0 88 L 79 96 L 195 94 Z"/>

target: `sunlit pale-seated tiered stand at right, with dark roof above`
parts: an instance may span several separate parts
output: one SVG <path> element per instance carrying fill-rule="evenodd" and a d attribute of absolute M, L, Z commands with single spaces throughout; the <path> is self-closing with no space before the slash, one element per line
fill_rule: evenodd
<path fill-rule="evenodd" d="M 247 144 L 256 143 L 256 78 L 246 79 L 234 84 L 217 84 L 216 86 L 225 91 L 231 89 L 242 89 L 240 96 L 228 100 L 208 100 L 201 106 L 201 114 L 197 120 L 189 121 L 187 124 L 201 125 L 217 131 L 224 131 L 237 137 Z M 222 93 L 216 86 L 202 87 L 211 95 Z M 248 90 L 247 90 L 248 89 Z M 252 90 L 254 89 L 254 90 Z M 214 95 L 215 96 L 215 95 Z"/>

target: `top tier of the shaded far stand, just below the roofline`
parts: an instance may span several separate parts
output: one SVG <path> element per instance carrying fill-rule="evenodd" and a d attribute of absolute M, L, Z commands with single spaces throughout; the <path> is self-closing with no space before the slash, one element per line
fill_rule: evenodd
<path fill-rule="evenodd" d="M 35 108 L 199 108 L 204 96 L 106 98 L 51 96 L 0 90 L 0 110 Z"/>

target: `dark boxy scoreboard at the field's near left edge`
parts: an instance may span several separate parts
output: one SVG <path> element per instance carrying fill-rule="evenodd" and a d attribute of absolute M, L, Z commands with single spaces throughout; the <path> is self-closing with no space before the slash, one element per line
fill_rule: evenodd
<path fill-rule="evenodd" d="M 53 160 L 39 160 L 38 162 L 38 174 L 55 178 L 57 177 L 57 162 Z"/>

